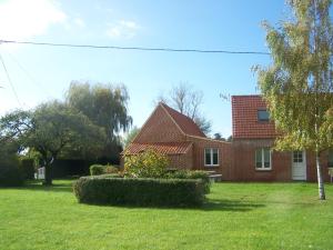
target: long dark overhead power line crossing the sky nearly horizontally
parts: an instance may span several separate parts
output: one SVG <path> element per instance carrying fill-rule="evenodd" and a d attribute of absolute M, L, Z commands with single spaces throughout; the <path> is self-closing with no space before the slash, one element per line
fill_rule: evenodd
<path fill-rule="evenodd" d="M 68 47 L 68 48 L 88 48 L 88 49 L 161 51 L 161 52 L 230 53 L 230 54 L 262 54 L 262 56 L 269 56 L 270 54 L 269 52 L 262 52 L 262 51 L 232 51 L 232 50 L 173 49 L 173 48 L 152 48 L 152 47 L 94 46 L 94 44 L 32 42 L 32 41 L 16 41 L 16 40 L 0 40 L 0 44 L 1 43 L 49 46 L 49 47 Z"/>

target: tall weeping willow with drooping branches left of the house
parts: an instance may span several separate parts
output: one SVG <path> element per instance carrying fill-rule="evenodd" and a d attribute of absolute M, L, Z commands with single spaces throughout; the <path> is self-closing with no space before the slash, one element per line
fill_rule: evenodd
<path fill-rule="evenodd" d="M 94 124 L 105 129 L 103 154 L 117 154 L 120 131 L 128 131 L 132 118 L 128 114 L 129 94 L 124 86 L 82 83 L 73 81 L 65 96 L 69 106 L 80 110 Z"/>

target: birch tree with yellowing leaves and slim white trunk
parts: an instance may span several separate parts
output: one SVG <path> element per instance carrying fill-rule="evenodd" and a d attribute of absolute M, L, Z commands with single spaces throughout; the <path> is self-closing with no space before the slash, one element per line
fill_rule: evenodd
<path fill-rule="evenodd" d="M 259 87 L 281 136 L 278 150 L 316 156 L 319 196 L 325 199 L 321 153 L 333 147 L 331 0 L 290 0 L 292 19 L 264 23 L 273 64 L 256 67 Z"/>

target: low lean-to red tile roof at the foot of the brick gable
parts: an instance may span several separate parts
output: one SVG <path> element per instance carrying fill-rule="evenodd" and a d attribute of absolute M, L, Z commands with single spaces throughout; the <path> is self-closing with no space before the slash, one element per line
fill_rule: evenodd
<path fill-rule="evenodd" d="M 157 143 L 131 143 L 122 154 L 137 154 L 148 149 L 153 149 L 163 154 L 186 153 L 192 142 L 157 142 Z"/>

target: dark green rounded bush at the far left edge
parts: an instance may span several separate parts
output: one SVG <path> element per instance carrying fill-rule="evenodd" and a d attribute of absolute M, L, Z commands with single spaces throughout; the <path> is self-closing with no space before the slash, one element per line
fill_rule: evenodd
<path fill-rule="evenodd" d="M 0 166 L 0 186 L 17 187 L 22 186 L 24 181 L 22 171 L 14 166 Z"/>

